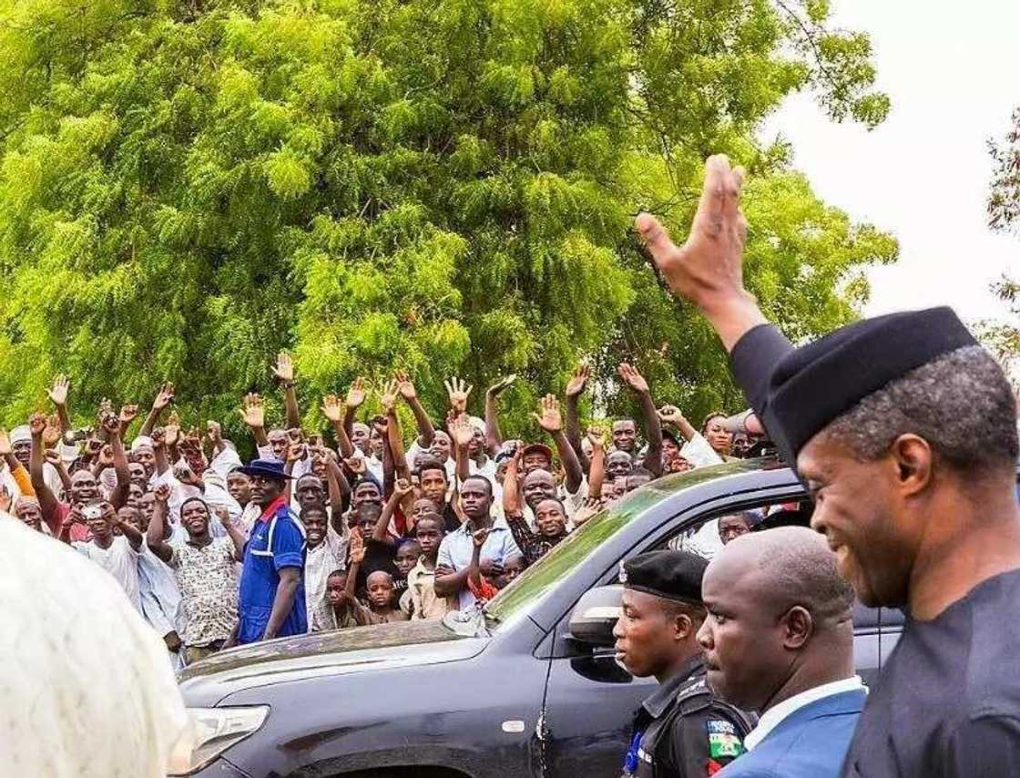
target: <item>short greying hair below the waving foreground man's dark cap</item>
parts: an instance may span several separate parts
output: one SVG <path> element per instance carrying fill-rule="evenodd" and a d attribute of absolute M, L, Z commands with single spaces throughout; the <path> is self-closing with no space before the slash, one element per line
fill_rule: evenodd
<path fill-rule="evenodd" d="M 1020 448 L 1013 390 L 980 346 L 950 351 L 886 384 L 822 432 L 862 461 L 880 458 L 901 435 L 918 435 L 966 472 L 1012 467 Z"/>

